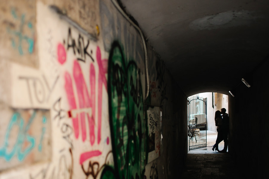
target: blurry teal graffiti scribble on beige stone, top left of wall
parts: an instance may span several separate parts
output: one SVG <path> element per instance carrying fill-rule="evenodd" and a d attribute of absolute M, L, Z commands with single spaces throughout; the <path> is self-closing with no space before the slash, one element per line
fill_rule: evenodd
<path fill-rule="evenodd" d="M 16 11 L 14 9 L 11 10 L 11 14 L 13 18 L 18 19 L 18 16 L 16 14 Z M 19 30 L 11 30 L 10 27 L 7 27 L 7 32 L 13 35 L 13 38 L 11 38 L 11 43 L 13 48 L 17 48 L 19 50 L 19 54 L 23 55 L 23 50 L 22 50 L 22 44 L 23 42 L 27 42 L 28 44 L 28 52 L 30 54 L 33 53 L 33 47 L 34 47 L 34 40 L 33 40 L 33 24 L 31 22 L 27 23 L 27 27 L 32 30 L 32 37 L 28 37 L 23 34 L 23 27 L 25 26 L 25 14 L 22 14 L 20 18 L 20 26 Z M 18 40 L 16 43 L 15 38 Z"/>

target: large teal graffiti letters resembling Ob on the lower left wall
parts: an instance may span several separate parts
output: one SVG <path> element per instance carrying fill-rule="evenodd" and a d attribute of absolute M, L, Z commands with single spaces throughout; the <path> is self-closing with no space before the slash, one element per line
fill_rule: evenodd
<path fill-rule="evenodd" d="M 4 138 L 4 144 L 3 146 L 0 147 L 0 157 L 3 157 L 6 161 L 10 161 L 17 154 L 17 159 L 19 161 L 23 161 L 26 155 L 28 155 L 31 152 L 31 150 L 35 147 L 36 140 L 33 136 L 28 134 L 28 130 L 30 129 L 30 126 L 35 118 L 35 115 L 36 112 L 33 112 L 25 128 L 23 127 L 24 120 L 21 117 L 21 115 L 18 112 L 15 112 L 12 115 L 10 123 L 7 126 L 7 132 Z M 15 125 L 19 126 L 19 133 L 16 143 L 9 152 L 7 150 L 9 145 L 8 139 L 10 136 L 10 131 Z M 30 145 L 24 151 L 22 151 L 22 144 L 24 143 L 25 138 L 30 143 Z"/>

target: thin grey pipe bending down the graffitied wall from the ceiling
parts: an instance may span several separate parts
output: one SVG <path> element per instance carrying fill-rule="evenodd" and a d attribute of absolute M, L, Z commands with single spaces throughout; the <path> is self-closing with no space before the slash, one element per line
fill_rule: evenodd
<path fill-rule="evenodd" d="M 146 83 L 147 83 L 147 89 L 146 89 L 146 96 L 145 99 L 149 95 L 149 71 L 148 71 L 148 56 L 147 56 L 147 48 L 146 48 L 146 42 L 143 36 L 142 31 L 140 28 L 126 15 L 126 13 L 121 9 L 119 4 L 116 2 L 116 0 L 111 0 L 111 2 L 114 4 L 114 6 L 117 8 L 117 10 L 136 28 L 136 30 L 139 32 L 142 42 L 143 42 L 143 47 L 144 47 L 144 56 L 145 56 L 145 70 L 146 70 Z"/>

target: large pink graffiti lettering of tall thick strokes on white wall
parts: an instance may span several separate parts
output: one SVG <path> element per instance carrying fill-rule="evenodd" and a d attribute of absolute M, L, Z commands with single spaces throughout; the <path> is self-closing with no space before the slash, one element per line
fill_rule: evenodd
<path fill-rule="evenodd" d="M 87 85 L 85 83 L 85 78 L 82 73 L 82 69 L 77 60 L 74 60 L 73 64 L 73 79 L 74 84 L 76 86 L 77 98 L 79 107 L 76 105 L 75 95 L 73 90 L 72 78 L 68 72 L 65 72 L 65 91 L 67 93 L 68 103 L 70 106 L 70 111 L 68 114 L 72 117 L 74 134 L 78 139 L 79 135 L 82 136 L 82 141 L 84 142 L 87 138 L 86 135 L 86 119 L 88 121 L 89 126 L 89 140 L 91 145 L 94 144 L 96 136 L 94 127 L 97 125 L 97 143 L 99 144 L 101 141 L 101 125 L 102 125 L 102 96 L 103 96 L 103 87 L 105 87 L 107 91 L 107 59 L 101 58 L 100 48 L 97 47 L 96 50 L 96 62 L 98 65 L 98 76 L 96 78 L 96 70 L 94 64 L 90 64 L 89 66 L 89 81 L 90 81 L 90 89 L 88 90 Z M 98 84 L 96 84 L 96 79 L 98 79 Z M 97 91 L 96 89 L 97 86 Z M 90 92 L 90 93 L 89 93 Z M 97 96 L 97 104 L 95 101 L 95 96 Z M 95 109 L 97 107 L 97 116 L 95 114 Z M 71 111 L 76 111 L 79 114 L 75 116 L 71 115 Z M 85 119 L 86 114 L 86 119 Z M 80 120 L 78 119 L 80 116 Z M 97 120 L 97 123 L 96 123 Z M 80 125 L 79 125 L 80 122 Z M 79 127 L 80 126 L 80 127 Z M 109 139 L 107 140 L 109 143 Z M 87 155 L 86 155 L 87 153 Z M 83 153 L 83 158 L 80 161 L 85 161 L 87 157 L 91 157 L 89 152 Z M 82 157 L 82 156 L 81 156 Z"/>

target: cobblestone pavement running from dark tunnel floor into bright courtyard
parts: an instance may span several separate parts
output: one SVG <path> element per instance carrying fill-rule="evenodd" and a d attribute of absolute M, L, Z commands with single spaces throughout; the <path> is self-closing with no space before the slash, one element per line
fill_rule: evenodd
<path fill-rule="evenodd" d="M 207 147 L 188 152 L 186 166 L 181 178 L 237 178 L 235 164 L 229 153 L 212 151 L 211 148 L 216 138 L 217 133 L 207 131 Z M 224 143 L 220 143 L 219 149 L 223 149 L 223 146 Z"/>

